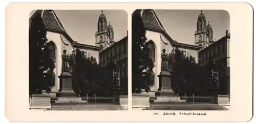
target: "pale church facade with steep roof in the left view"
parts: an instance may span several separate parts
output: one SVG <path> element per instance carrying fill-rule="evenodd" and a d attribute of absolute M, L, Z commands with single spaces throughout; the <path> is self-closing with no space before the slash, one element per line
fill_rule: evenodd
<path fill-rule="evenodd" d="M 87 57 L 93 56 L 98 61 L 100 47 L 88 44 L 81 44 L 77 41 L 74 41 L 68 35 L 53 10 L 36 10 L 29 19 L 29 27 L 32 18 L 36 14 L 41 15 L 42 21 L 44 22 L 45 28 L 47 30 L 48 42 L 51 43 L 51 58 L 54 60 L 56 66 L 52 75 L 55 79 L 55 86 L 52 88 L 52 91 L 57 92 L 60 88 L 58 76 L 61 74 L 61 54 L 63 53 L 62 51 L 67 50 L 67 54 L 71 54 L 73 50 L 79 48 L 85 53 Z"/>

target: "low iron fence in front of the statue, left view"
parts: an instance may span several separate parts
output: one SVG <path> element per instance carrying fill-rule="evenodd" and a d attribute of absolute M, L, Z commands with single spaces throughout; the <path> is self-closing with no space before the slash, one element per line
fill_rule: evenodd
<path fill-rule="evenodd" d="M 119 104 L 119 97 L 52 97 L 51 105 L 96 105 Z"/>

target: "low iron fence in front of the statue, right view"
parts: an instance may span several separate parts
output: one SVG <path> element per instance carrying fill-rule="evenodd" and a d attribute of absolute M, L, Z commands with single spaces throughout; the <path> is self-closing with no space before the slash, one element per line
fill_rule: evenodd
<path fill-rule="evenodd" d="M 215 96 L 150 96 L 150 104 L 217 104 Z"/>

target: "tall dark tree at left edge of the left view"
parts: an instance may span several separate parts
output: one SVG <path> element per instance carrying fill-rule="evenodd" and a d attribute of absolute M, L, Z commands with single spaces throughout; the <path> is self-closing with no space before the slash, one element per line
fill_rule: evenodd
<path fill-rule="evenodd" d="M 36 14 L 29 28 L 29 94 L 51 91 L 55 65 L 50 58 L 50 49 L 45 24 L 40 14 Z"/>

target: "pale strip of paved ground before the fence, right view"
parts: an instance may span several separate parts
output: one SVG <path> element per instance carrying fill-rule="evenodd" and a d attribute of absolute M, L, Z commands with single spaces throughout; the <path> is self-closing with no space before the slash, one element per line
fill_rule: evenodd
<path fill-rule="evenodd" d="M 218 104 L 191 104 L 191 105 L 151 105 L 144 110 L 229 110 L 229 107 L 219 106 Z"/>

